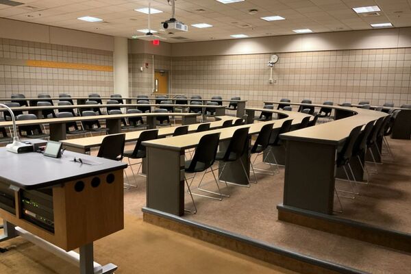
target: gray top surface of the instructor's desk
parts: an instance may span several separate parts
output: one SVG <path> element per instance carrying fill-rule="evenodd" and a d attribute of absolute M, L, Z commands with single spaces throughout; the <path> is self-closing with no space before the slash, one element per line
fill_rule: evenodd
<path fill-rule="evenodd" d="M 89 165 L 71 162 L 74 158 L 101 164 Z M 65 151 L 62 158 L 50 158 L 41 153 L 16 154 L 0 149 L 0 182 L 26 190 L 45 188 L 77 178 L 127 168 L 127 164 Z"/>

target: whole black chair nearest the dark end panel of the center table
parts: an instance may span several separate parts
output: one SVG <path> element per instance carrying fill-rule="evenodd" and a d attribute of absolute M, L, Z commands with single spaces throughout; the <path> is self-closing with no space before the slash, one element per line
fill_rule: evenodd
<path fill-rule="evenodd" d="M 216 153 L 217 153 L 217 148 L 219 147 L 219 141 L 220 141 L 220 133 L 207 134 L 201 137 L 201 139 L 199 140 L 199 145 L 195 149 L 194 156 L 192 157 L 191 160 L 186 160 L 184 164 L 185 174 L 207 171 L 207 169 L 209 169 L 212 166 L 212 164 L 214 164 Z M 217 182 L 214 171 L 212 171 L 212 174 L 214 176 L 216 185 L 219 186 L 219 182 Z M 185 211 L 195 214 L 197 213 L 197 207 L 195 206 L 194 198 L 192 197 L 192 192 L 190 189 L 190 186 L 194 178 L 195 178 L 195 175 L 193 175 L 190 178 L 187 178 L 186 176 L 184 176 L 184 181 L 186 182 L 188 193 L 190 194 L 191 201 L 194 206 L 194 210 L 185 209 Z M 191 179 L 190 184 L 188 184 L 188 179 Z"/>

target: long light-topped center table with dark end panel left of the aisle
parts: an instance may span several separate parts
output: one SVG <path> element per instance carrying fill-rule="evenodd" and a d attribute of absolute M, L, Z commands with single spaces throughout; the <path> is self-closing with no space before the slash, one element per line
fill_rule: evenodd
<path fill-rule="evenodd" d="M 218 132 L 221 134 L 220 141 L 225 142 L 232 138 L 236 129 L 242 127 L 249 127 L 249 134 L 252 135 L 258 134 L 266 124 L 273 123 L 274 129 L 277 129 L 288 119 L 292 119 L 293 124 L 298 124 L 304 117 L 309 116 L 299 112 L 282 110 L 275 112 L 286 118 L 143 142 L 143 145 L 147 147 L 147 207 L 178 216 L 184 214 L 184 151 L 197 147 L 202 136 Z M 242 162 L 249 173 L 248 153 L 245 153 Z M 161 172 L 158 172 L 159 166 L 161 166 Z M 232 162 L 229 168 L 226 167 L 224 174 L 226 177 L 223 180 L 236 184 L 248 184 L 240 160 Z"/>

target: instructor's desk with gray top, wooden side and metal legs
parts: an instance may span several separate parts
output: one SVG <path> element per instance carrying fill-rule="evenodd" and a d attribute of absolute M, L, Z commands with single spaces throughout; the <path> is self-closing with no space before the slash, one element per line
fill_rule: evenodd
<path fill-rule="evenodd" d="M 73 162 L 75 157 L 95 164 Z M 4 148 L 0 159 L 0 241 L 23 236 L 79 263 L 81 274 L 114 273 L 114 264 L 93 262 L 92 242 L 124 227 L 127 164 L 71 151 L 55 159 Z M 72 251 L 77 248 L 79 259 Z"/>

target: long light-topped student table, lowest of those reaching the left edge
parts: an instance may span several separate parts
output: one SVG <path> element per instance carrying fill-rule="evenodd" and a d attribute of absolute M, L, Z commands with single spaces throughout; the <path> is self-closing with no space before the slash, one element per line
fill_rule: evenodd
<path fill-rule="evenodd" d="M 132 117 L 146 117 L 147 127 L 154 129 L 156 127 L 156 117 L 160 116 L 182 116 L 183 125 L 190 125 L 197 123 L 197 113 L 136 113 L 136 114 L 113 114 L 113 115 L 98 115 L 98 116 L 75 116 L 70 118 L 51 118 L 51 119 L 37 119 L 16 121 L 16 125 L 49 125 L 51 140 L 65 140 L 66 139 L 66 123 L 105 120 L 105 125 L 110 129 L 109 134 L 116 134 L 121 132 L 121 120 Z M 11 127 L 12 121 L 0 122 L 0 127 Z"/>

